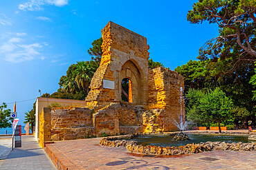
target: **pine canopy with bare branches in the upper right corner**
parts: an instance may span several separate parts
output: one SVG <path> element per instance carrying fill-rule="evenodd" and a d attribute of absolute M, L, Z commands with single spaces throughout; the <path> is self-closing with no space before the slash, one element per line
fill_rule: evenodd
<path fill-rule="evenodd" d="M 190 23 L 217 23 L 219 36 L 206 42 L 198 59 L 219 63 L 219 71 L 233 72 L 255 61 L 255 0 L 199 0 L 188 12 Z"/>

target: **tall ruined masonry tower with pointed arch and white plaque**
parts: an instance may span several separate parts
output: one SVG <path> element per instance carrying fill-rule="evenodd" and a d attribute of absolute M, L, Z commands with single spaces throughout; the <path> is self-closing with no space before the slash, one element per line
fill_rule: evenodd
<path fill-rule="evenodd" d="M 86 97 L 86 105 L 107 105 L 119 102 L 122 79 L 129 78 L 129 102 L 138 105 L 148 100 L 149 45 L 144 36 L 131 32 L 116 23 L 102 29 L 102 59 L 95 72 Z"/>

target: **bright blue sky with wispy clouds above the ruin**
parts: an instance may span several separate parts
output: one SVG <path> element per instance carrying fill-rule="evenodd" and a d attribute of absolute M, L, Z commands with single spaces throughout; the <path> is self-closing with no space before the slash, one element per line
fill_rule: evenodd
<path fill-rule="evenodd" d="M 145 36 L 150 58 L 171 70 L 196 60 L 218 28 L 187 21 L 195 2 L 0 0 L 0 103 L 12 109 L 16 100 L 23 123 L 29 99 L 38 89 L 56 92 L 69 65 L 89 61 L 87 50 L 109 21 Z"/>

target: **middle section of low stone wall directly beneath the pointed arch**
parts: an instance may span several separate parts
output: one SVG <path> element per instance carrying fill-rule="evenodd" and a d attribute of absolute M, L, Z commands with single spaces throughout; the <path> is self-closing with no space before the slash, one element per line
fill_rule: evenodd
<path fill-rule="evenodd" d="M 111 103 L 93 114 L 95 135 L 133 134 L 143 130 L 143 111 L 129 103 Z"/>

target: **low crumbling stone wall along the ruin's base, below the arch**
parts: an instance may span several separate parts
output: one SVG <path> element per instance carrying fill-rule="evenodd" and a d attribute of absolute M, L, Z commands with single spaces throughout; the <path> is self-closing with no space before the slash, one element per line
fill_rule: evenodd
<path fill-rule="evenodd" d="M 165 109 L 147 110 L 144 106 L 125 102 L 90 108 L 44 107 L 39 118 L 39 142 L 43 146 L 51 140 L 163 132 L 167 125 L 166 114 Z"/>

